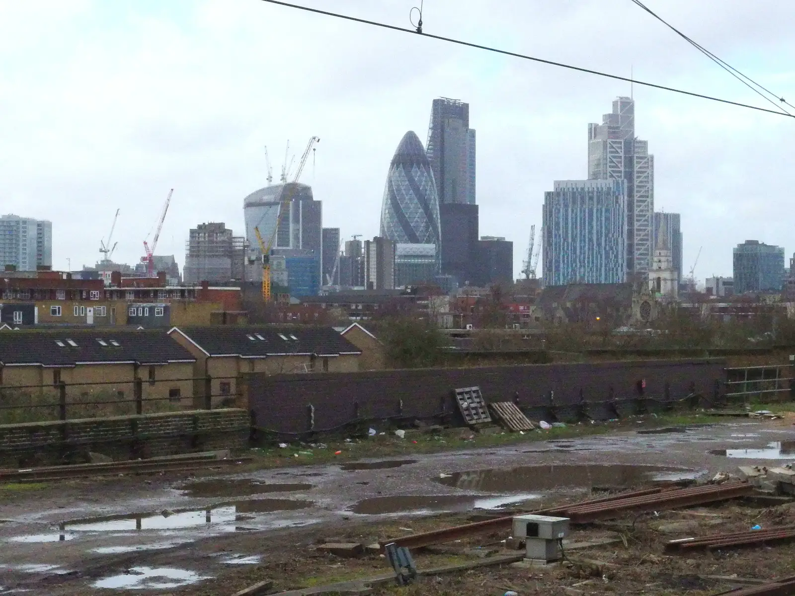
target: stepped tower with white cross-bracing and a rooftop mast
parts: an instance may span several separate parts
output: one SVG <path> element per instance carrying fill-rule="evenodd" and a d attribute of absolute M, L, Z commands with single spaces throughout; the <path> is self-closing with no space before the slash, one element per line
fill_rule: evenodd
<path fill-rule="evenodd" d="M 633 99 L 615 99 L 602 124 L 588 125 L 588 178 L 626 180 L 626 273 L 645 277 L 654 246 L 654 156 L 649 141 L 635 137 Z"/>

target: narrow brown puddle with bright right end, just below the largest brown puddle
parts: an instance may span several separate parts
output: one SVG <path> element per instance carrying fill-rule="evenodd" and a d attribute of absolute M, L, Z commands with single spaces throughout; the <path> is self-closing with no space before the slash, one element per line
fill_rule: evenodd
<path fill-rule="evenodd" d="M 363 515 L 386 513 L 432 513 L 438 511 L 469 511 L 470 509 L 499 509 L 512 503 L 541 498 L 540 494 L 519 494 L 510 497 L 478 497 L 476 495 L 443 494 L 434 497 L 398 495 L 374 497 L 356 503 L 350 511 Z"/>

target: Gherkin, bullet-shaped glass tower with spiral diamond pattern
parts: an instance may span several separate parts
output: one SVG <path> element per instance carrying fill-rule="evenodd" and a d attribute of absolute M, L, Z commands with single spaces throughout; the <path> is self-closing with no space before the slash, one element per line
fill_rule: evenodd
<path fill-rule="evenodd" d="M 413 130 L 397 145 L 386 176 L 381 235 L 398 244 L 436 245 L 440 258 L 439 199 L 425 149 Z"/>

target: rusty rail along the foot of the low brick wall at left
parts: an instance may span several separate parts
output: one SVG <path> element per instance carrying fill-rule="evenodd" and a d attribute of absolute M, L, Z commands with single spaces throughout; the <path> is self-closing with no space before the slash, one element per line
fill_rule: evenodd
<path fill-rule="evenodd" d="M 171 470 L 196 470 L 213 466 L 231 466 L 250 462 L 252 458 L 208 459 L 161 459 L 157 461 L 135 460 L 129 462 L 87 463 L 71 466 L 46 466 L 25 470 L 0 470 L 0 482 L 25 482 L 29 480 L 61 480 L 90 476 L 117 474 L 153 474 Z"/>

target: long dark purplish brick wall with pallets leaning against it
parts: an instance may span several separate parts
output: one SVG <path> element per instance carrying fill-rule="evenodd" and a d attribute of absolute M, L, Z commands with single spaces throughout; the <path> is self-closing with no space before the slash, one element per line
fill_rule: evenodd
<path fill-rule="evenodd" d="M 433 419 L 463 424 L 453 389 L 479 385 L 487 401 L 515 401 L 538 419 L 585 412 L 615 418 L 688 399 L 709 404 L 723 393 L 721 358 L 584 362 L 359 373 L 246 373 L 254 424 L 279 435 L 342 428 L 355 420 Z M 241 405 L 242 404 L 238 404 Z M 622 412 L 621 412 L 622 411 Z"/>

